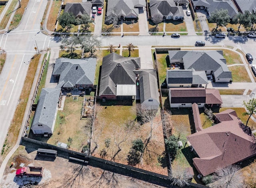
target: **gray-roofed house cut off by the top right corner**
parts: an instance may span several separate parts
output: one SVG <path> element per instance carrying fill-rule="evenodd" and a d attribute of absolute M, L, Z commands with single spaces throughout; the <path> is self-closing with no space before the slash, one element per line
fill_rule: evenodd
<path fill-rule="evenodd" d="M 234 0 L 239 12 L 249 10 L 251 14 L 256 14 L 256 0 Z"/>

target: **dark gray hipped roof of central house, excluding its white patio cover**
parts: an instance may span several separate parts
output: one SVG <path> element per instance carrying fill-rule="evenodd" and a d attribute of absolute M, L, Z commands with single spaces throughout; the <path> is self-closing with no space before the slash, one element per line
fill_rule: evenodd
<path fill-rule="evenodd" d="M 116 84 L 136 84 L 133 70 L 140 68 L 140 57 L 110 53 L 103 57 L 99 95 L 116 95 Z"/>

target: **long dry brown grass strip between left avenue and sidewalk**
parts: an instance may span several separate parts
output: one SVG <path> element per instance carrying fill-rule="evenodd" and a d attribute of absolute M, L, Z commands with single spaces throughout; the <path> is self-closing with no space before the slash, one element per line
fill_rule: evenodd
<path fill-rule="evenodd" d="M 20 133 L 20 128 L 22 125 L 22 120 L 24 117 L 26 105 L 28 102 L 28 97 L 30 94 L 30 90 L 34 81 L 34 77 L 36 74 L 36 69 L 38 67 L 38 62 L 41 57 L 41 54 L 35 55 L 34 59 L 30 61 L 29 67 L 28 67 L 28 73 L 26 75 L 26 79 L 20 94 L 20 102 L 16 107 L 14 117 L 12 119 L 9 131 L 8 131 L 8 136 L 6 137 L 6 141 L 4 142 L 4 147 L 3 147 L 3 156 L 5 157 L 10 150 L 14 147 L 14 145 L 17 142 L 18 135 Z"/>

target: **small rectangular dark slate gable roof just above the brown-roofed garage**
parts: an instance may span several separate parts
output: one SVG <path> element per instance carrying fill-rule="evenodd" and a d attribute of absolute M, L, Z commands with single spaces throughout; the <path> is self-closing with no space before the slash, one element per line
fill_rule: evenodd
<path fill-rule="evenodd" d="M 192 70 L 167 70 L 168 83 L 192 83 Z"/>

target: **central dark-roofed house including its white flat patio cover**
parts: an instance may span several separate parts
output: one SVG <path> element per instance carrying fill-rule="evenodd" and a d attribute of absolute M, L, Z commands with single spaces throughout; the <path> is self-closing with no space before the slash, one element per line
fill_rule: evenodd
<path fill-rule="evenodd" d="M 100 75 L 100 99 L 132 99 L 136 96 L 136 74 L 140 57 L 110 53 L 103 57 Z"/>

